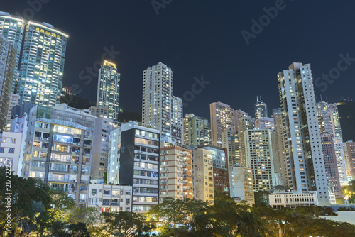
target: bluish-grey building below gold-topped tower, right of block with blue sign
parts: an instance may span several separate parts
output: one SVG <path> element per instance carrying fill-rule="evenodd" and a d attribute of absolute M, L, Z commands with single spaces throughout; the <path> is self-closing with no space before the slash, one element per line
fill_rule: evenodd
<path fill-rule="evenodd" d="M 107 172 L 109 160 L 109 136 L 111 131 L 119 127 L 119 123 L 111 118 L 95 118 L 92 133 L 92 162 L 90 177 L 92 180 L 103 180 Z"/>

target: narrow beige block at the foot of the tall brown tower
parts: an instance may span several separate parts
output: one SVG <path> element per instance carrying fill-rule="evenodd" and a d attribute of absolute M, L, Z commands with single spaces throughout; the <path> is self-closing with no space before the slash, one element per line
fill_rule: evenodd
<path fill-rule="evenodd" d="M 233 128 L 222 132 L 222 148 L 225 148 L 228 157 L 229 167 L 236 167 L 241 165 L 241 157 L 239 153 L 239 136 Z"/>

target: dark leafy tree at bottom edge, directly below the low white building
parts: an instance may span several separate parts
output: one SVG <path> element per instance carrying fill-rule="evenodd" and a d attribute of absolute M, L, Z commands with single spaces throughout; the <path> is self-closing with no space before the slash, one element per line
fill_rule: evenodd
<path fill-rule="evenodd" d="M 111 235 L 135 236 L 139 231 L 146 229 L 143 226 L 143 221 L 146 218 L 140 213 L 129 211 L 104 212 L 102 216 L 105 230 Z"/>

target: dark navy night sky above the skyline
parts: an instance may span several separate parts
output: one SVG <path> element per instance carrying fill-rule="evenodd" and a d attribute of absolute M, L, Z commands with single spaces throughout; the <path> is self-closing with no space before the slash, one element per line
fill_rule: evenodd
<path fill-rule="evenodd" d="M 311 63 L 320 84 L 316 94 L 329 102 L 354 99 L 354 1 L 157 0 L 157 8 L 165 2 L 158 14 L 151 1 L 41 1 L 32 11 L 24 0 L 1 0 L 0 11 L 34 13 L 33 20 L 68 33 L 63 84 L 78 84 L 79 95 L 91 101 L 96 101 L 97 77 L 85 70 L 99 65 L 104 48 L 120 52 L 105 58 L 116 62 L 121 73 L 119 104 L 125 111 L 141 114 L 143 70 L 157 62 L 172 68 L 174 94 L 185 94 L 188 102 L 184 114 L 209 118 L 209 104 L 222 101 L 253 116 L 257 95 L 270 113 L 280 106 L 276 75 L 292 62 Z M 275 6 L 277 16 L 265 17 L 263 8 Z M 262 29 L 252 31 L 251 20 L 260 18 Z M 249 45 L 243 30 L 254 32 Z M 340 62 L 342 72 L 337 69 L 340 54 L 354 58 L 348 65 Z M 334 80 L 317 79 L 329 72 Z M 202 75 L 210 83 L 190 101 L 194 77 Z"/>

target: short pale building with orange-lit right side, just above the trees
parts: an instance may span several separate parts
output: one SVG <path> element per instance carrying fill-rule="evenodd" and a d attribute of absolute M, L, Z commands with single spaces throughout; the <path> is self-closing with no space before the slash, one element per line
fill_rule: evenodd
<path fill-rule="evenodd" d="M 255 203 L 253 189 L 253 173 L 248 167 L 231 167 L 231 197 Z"/>

